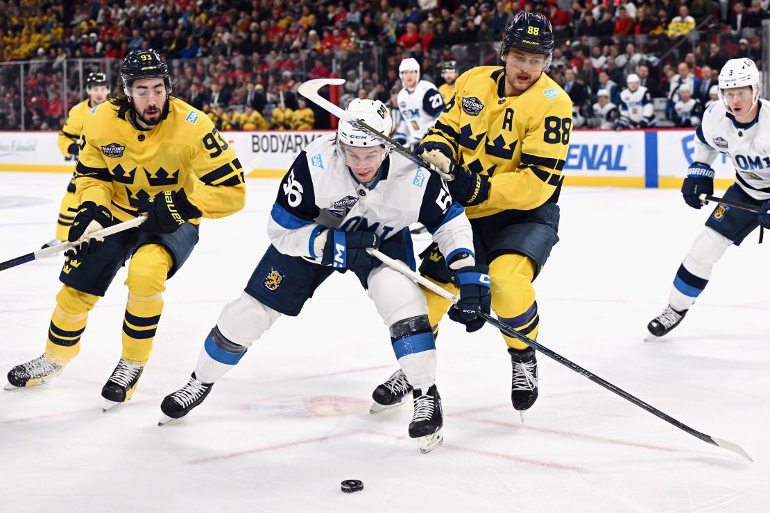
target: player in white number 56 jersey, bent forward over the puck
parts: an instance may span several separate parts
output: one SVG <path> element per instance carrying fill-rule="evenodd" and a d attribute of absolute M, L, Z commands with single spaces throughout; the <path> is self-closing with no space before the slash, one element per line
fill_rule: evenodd
<path fill-rule="evenodd" d="M 382 102 L 350 102 L 347 110 L 388 133 Z M 283 177 L 268 221 L 269 246 L 246 291 L 223 309 L 206 338 L 187 385 L 161 405 L 163 424 L 199 405 L 214 382 L 243 357 L 280 315 L 300 314 L 326 278 L 353 271 L 390 328 L 397 360 L 413 385 L 411 438 L 420 449 L 440 444 L 441 400 L 435 384 L 436 348 L 427 303 L 409 278 L 371 256 L 380 252 L 415 268 L 410 223 L 421 222 L 447 256 L 460 284 L 460 311 L 474 319 L 490 311 L 488 268 L 476 265 L 463 208 L 439 175 L 395 153 L 348 122 L 317 138 Z"/>

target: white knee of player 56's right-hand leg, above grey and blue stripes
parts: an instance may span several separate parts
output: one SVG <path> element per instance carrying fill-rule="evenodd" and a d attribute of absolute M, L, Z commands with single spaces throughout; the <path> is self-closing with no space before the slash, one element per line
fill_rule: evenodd
<path fill-rule="evenodd" d="M 428 313 L 420 288 L 393 268 L 380 265 L 373 269 L 368 285 L 367 294 L 388 326 L 400 319 Z"/>

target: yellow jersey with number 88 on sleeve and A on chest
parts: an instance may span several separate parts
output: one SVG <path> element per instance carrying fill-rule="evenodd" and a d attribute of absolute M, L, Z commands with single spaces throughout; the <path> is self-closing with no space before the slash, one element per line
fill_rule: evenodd
<path fill-rule="evenodd" d="M 489 198 L 469 218 L 531 210 L 557 197 L 572 128 L 572 101 L 545 73 L 519 96 L 504 96 L 504 68 L 457 78 L 455 94 L 423 142 L 448 143 L 454 162 L 489 175 Z"/>

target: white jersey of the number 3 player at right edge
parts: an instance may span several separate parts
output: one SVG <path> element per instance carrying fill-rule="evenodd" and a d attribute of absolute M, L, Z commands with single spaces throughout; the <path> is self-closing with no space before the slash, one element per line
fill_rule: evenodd
<path fill-rule="evenodd" d="M 711 165 L 722 153 L 732 160 L 735 182 L 752 198 L 770 199 L 770 102 L 758 100 L 753 122 L 738 123 L 722 102 L 709 105 L 695 130 L 696 162 Z"/>

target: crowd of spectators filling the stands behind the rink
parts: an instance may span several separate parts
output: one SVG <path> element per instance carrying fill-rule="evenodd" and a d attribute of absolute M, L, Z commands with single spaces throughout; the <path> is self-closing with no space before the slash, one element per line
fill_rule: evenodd
<path fill-rule="evenodd" d="M 436 85 L 445 60 L 456 60 L 460 72 L 497 65 L 495 45 L 521 10 L 551 20 L 557 47 L 549 74 L 573 99 L 576 125 L 580 118 L 595 125 L 600 90 L 620 102 L 631 74 L 651 98 L 664 98 L 660 120 L 678 125 L 676 105 L 685 89 L 705 104 L 728 58 L 761 59 L 768 3 L 0 0 L 0 129 L 20 128 L 24 102 L 26 129 L 58 130 L 69 107 L 83 98 L 73 59 L 94 59 L 85 71 L 110 68 L 115 82 L 126 53 L 146 48 L 172 65 L 174 94 L 223 130 L 328 128 L 328 115 L 297 95 L 303 80 L 336 72 L 348 80 L 340 103 L 359 97 L 393 105 L 403 58 L 417 58 L 421 78 Z M 28 60 L 23 70 L 14 65 Z"/>

